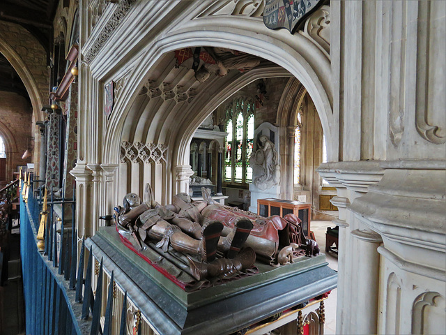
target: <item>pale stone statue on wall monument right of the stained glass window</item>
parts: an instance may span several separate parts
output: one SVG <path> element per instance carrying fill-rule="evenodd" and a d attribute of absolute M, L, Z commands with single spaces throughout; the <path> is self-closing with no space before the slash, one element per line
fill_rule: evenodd
<path fill-rule="evenodd" d="M 261 190 L 266 190 L 279 184 L 280 166 L 277 163 L 277 151 L 266 135 L 261 135 L 257 143 L 257 150 L 249 158 L 249 163 L 253 168 L 261 167 L 263 174 L 256 177 L 254 185 Z"/>

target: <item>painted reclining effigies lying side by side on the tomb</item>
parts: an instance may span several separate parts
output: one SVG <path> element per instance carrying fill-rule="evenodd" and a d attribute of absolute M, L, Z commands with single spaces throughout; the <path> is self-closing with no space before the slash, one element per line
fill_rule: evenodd
<path fill-rule="evenodd" d="M 256 260 L 270 267 L 287 265 L 295 258 L 317 255 L 307 250 L 300 219 L 263 218 L 213 202 L 206 188 L 202 202 L 186 193 L 161 206 L 146 186 L 144 202 L 125 195 L 115 207 L 121 241 L 164 276 L 188 292 L 257 273 Z"/>

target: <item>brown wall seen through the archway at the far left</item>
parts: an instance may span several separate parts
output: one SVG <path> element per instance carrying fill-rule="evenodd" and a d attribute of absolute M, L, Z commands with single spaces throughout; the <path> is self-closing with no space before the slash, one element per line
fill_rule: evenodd
<path fill-rule="evenodd" d="M 31 157 L 22 159 L 26 149 L 36 150 L 28 148 L 33 144 L 32 107 L 26 98 L 12 92 L 0 91 L 0 101 L 0 136 L 6 149 L 6 181 L 11 181 L 17 165 L 31 163 Z"/>

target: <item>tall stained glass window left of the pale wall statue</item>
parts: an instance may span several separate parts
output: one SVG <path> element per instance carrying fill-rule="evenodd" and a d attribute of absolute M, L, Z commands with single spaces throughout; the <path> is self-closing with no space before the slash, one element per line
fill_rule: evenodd
<path fill-rule="evenodd" d="M 234 110 L 232 107 L 234 106 Z M 238 98 L 226 107 L 226 153 L 224 181 L 235 183 L 252 182 L 249 157 L 254 142 L 254 103 Z"/>

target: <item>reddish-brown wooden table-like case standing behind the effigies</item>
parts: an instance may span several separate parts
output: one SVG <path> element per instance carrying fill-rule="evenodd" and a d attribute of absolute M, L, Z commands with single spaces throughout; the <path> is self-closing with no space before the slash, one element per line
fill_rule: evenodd
<path fill-rule="evenodd" d="M 309 202 L 300 202 L 284 199 L 259 199 L 257 200 L 257 214 L 260 216 L 295 214 L 300 220 L 304 228 L 305 236 L 310 237 L 310 221 L 312 214 L 312 204 Z"/>

